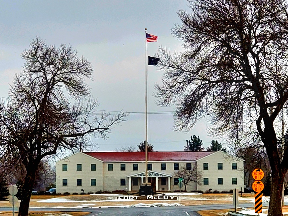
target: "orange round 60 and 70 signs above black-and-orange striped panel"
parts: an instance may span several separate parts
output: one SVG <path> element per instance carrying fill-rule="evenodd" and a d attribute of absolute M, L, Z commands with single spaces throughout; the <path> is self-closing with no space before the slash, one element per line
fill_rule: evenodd
<path fill-rule="evenodd" d="M 262 213 L 262 193 L 261 191 L 264 189 L 264 183 L 260 181 L 264 177 L 264 172 L 262 169 L 255 169 L 252 172 L 252 177 L 256 181 L 253 182 L 252 188 L 255 191 L 255 213 L 259 215 Z"/>

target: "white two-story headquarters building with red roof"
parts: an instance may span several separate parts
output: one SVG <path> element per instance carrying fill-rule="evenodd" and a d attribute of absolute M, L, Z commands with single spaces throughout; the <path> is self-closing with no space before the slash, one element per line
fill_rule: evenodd
<path fill-rule="evenodd" d="M 187 191 L 244 188 L 243 161 L 223 151 L 148 152 L 148 181 L 154 191 L 179 190 L 175 173 L 194 166 L 201 183 Z M 56 192 L 139 191 L 145 182 L 145 152 L 77 152 L 56 162 Z"/>

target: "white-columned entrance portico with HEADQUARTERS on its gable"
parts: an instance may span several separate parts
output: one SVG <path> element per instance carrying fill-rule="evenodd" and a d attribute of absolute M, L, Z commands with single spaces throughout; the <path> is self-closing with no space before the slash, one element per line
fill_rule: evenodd
<path fill-rule="evenodd" d="M 166 173 L 159 173 L 151 170 L 148 171 L 147 175 L 148 175 L 148 182 L 151 183 L 151 185 L 154 188 L 154 191 L 171 190 L 172 175 Z M 127 178 L 129 179 L 129 191 L 138 191 L 139 185 L 145 183 L 145 177 L 146 177 L 145 172 L 127 176 Z"/>

